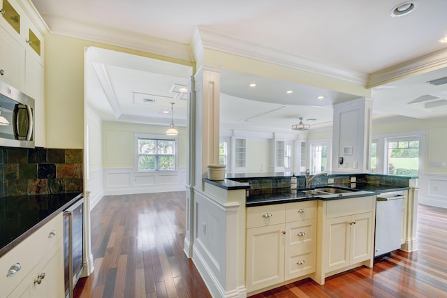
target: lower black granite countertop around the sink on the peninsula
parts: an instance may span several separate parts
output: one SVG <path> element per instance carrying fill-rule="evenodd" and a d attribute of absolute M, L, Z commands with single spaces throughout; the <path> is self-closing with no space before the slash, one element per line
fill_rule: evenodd
<path fill-rule="evenodd" d="M 356 183 L 352 185 L 335 184 L 331 185 L 336 188 L 353 188 L 356 191 L 353 193 L 335 193 L 328 195 L 309 195 L 298 189 L 295 192 L 278 192 L 269 193 L 261 195 L 249 195 L 247 198 L 246 207 L 263 206 L 268 204 L 284 204 L 288 202 L 300 202 L 300 201 L 310 201 L 310 200 L 339 200 L 348 198 L 358 198 L 365 197 L 369 195 L 378 195 L 379 193 L 386 193 L 390 191 L 403 191 L 409 189 L 409 187 L 396 187 L 390 185 L 379 185 L 379 184 L 367 184 L 367 183 Z M 309 188 L 313 189 L 313 188 Z M 318 189 L 318 188 L 316 188 Z"/>

